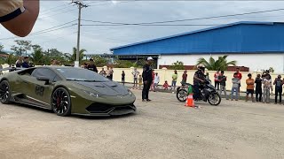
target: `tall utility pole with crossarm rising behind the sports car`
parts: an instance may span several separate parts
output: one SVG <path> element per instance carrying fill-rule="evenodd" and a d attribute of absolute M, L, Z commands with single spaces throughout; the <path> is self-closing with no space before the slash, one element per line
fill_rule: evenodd
<path fill-rule="evenodd" d="M 76 60 L 75 60 L 75 67 L 79 67 L 79 51 L 80 51 L 80 29 L 81 29 L 81 9 L 84 7 L 88 7 L 88 5 L 85 5 L 81 2 L 82 0 L 72 0 L 72 4 L 78 5 L 79 8 L 79 14 L 78 14 L 78 33 L 77 33 L 77 49 L 76 49 Z"/>

